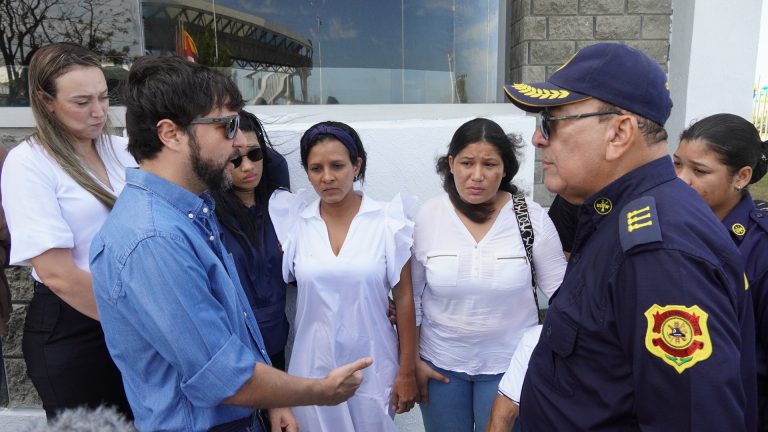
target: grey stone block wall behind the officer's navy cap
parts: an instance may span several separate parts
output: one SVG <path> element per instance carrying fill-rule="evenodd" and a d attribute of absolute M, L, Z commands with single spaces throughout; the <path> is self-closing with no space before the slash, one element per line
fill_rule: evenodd
<path fill-rule="evenodd" d="M 669 60 L 671 0 L 510 0 L 510 64 L 507 82 L 541 82 L 579 49 L 622 42 Z M 620 77 L 617 77 L 620 79 Z M 534 174 L 534 198 L 544 206 L 554 195 Z"/>

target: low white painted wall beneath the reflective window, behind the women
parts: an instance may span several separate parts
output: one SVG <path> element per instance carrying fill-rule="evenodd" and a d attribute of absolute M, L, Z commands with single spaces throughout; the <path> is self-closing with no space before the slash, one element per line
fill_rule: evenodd
<path fill-rule="evenodd" d="M 515 183 L 533 191 L 534 151 L 530 144 L 533 117 L 512 104 L 466 105 L 304 105 L 249 106 L 264 121 L 275 148 L 285 155 L 292 189 L 311 189 L 299 158 L 299 139 L 313 124 L 336 120 L 357 130 L 368 152 L 363 186 L 373 198 L 388 200 L 400 191 L 421 202 L 442 191 L 435 160 L 445 154 L 456 129 L 475 117 L 490 118 L 507 133 L 520 134 L 525 142 L 522 165 Z M 34 127 L 29 108 L 4 108 L 0 129 Z M 125 108 L 111 109 L 113 122 L 123 126 Z"/>

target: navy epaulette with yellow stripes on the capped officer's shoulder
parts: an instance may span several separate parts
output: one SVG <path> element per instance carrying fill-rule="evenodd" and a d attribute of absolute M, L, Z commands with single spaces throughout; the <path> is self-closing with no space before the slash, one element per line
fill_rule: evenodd
<path fill-rule="evenodd" d="M 637 245 L 661 241 L 656 199 L 651 196 L 641 197 L 621 209 L 619 240 L 624 252 Z"/>

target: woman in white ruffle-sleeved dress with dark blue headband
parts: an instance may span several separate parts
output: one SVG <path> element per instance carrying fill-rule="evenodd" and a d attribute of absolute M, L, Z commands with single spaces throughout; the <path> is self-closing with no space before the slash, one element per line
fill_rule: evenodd
<path fill-rule="evenodd" d="M 300 151 L 320 198 L 306 204 L 301 194 L 278 191 L 269 208 L 284 251 L 283 277 L 298 286 L 288 373 L 324 377 L 366 356 L 373 365 L 347 402 L 295 408 L 294 414 L 301 430 L 396 432 L 395 413 L 410 410 L 418 394 L 410 275 L 414 200 L 398 195 L 380 202 L 354 189 L 365 177 L 366 153 L 344 123 L 312 126 Z M 397 332 L 387 318 L 390 290 Z"/>

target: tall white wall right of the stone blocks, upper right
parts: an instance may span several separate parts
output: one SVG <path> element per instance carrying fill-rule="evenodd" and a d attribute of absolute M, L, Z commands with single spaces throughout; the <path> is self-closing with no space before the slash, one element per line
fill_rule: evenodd
<path fill-rule="evenodd" d="M 762 0 L 672 0 L 672 10 L 670 150 L 697 119 L 729 112 L 751 120 Z"/>

